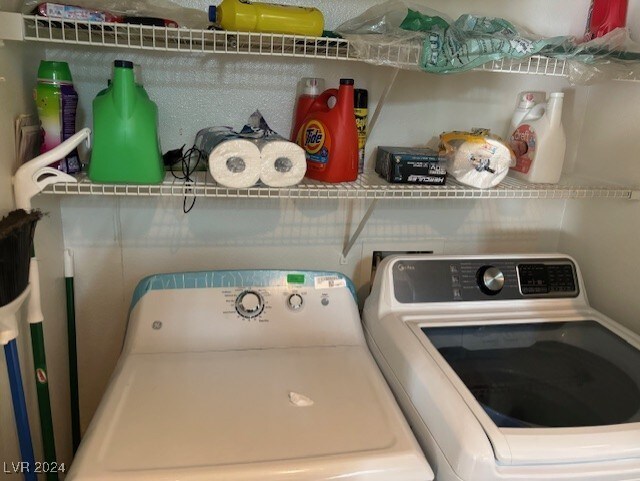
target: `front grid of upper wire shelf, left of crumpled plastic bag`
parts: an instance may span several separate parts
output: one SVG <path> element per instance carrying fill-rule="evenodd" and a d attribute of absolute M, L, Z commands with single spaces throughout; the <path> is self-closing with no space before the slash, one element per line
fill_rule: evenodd
<path fill-rule="evenodd" d="M 40 42 L 178 52 L 353 59 L 348 41 L 325 37 L 191 30 L 30 15 L 24 15 L 23 21 L 25 40 Z"/>

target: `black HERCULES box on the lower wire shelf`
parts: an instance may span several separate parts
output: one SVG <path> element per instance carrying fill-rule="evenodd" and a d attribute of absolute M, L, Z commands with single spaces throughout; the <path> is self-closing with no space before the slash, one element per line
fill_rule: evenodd
<path fill-rule="evenodd" d="M 447 164 L 433 149 L 378 147 L 376 172 L 394 184 L 444 185 Z"/>

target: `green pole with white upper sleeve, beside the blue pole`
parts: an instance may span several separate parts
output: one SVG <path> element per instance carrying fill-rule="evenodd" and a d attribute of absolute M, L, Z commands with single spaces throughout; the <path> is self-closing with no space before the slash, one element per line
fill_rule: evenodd
<path fill-rule="evenodd" d="M 31 285 L 31 295 L 27 301 L 27 319 L 31 328 L 31 348 L 33 351 L 36 392 L 38 394 L 44 460 L 49 463 L 49 466 L 57 466 L 56 443 L 53 437 L 53 420 L 51 419 L 47 359 L 44 354 L 44 335 L 42 330 L 44 315 L 40 306 L 40 274 L 35 255 L 31 257 L 29 266 L 29 283 Z M 58 473 L 55 471 L 47 472 L 46 478 L 47 481 L 58 481 Z"/>

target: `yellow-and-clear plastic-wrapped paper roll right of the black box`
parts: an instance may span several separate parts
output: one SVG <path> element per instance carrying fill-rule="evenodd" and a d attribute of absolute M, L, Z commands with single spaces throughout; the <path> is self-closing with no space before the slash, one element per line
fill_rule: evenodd
<path fill-rule="evenodd" d="M 516 160 L 506 142 L 486 129 L 441 134 L 440 155 L 447 159 L 449 175 L 478 189 L 502 182 Z"/>

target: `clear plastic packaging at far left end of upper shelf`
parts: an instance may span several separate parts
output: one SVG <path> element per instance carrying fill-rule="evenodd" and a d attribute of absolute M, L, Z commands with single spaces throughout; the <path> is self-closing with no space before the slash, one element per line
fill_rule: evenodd
<path fill-rule="evenodd" d="M 25 0 L 22 13 L 32 15 L 43 0 Z M 181 28 L 206 29 L 209 19 L 205 10 L 182 7 L 170 0 L 60 0 L 48 2 L 57 5 L 72 5 L 94 12 L 105 12 L 115 17 L 152 17 L 170 20 Z"/>

